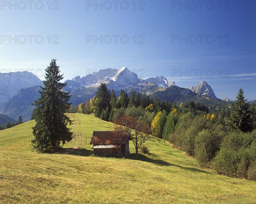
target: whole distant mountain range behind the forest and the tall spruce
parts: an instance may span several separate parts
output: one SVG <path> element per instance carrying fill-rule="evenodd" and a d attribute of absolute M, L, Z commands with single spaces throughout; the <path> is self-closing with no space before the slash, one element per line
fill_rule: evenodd
<path fill-rule="evenodd" d="M 9 100 L 4 104 L 5 106 L 1 106 L 0 113 L 8 115 L 16 120 L 19 115 L 22 116 L 24 121 L 30 120 L 34 109 L 32 103 L 40 97 L 40 93 L 38 92 L 41 90 L 40 86 L 44 86 L 43 82 L 35 75 L 32 75 L 32 79 L 32 82 L 27 82 L 27 80 L 11 78 L 9 80 L 10 85 L 6 83 L 5 86 L 10 86 L 9 88 L 15 87 L 15 92 L 17 92 L 17 94 L 13 95 L 15 94 L 14 92 L 12 94 L 13 96 L 9 96 Z M 22 81 L 26 86 L 31 87 L 24 89 L 20 88 L 17 91 L 18 87 L 13 86 L 13 81 L 15 80 Z M 128 95 L 132 90 L 135 90 L 150 97 L 157 97 L 173 103 L 184 103 L 187 101 L 200 101 L 206 105 L 209 103 L 227 103 L 217 99 L 211 86 L 205 81 L 201 81 L 195 87 L 186 89 L 178 87 L 174 81 L 168 81 L 167 78 L 163 76 L 147 79 L 138 78 L 138 75 L 131 72 L 127 67 L 123 67 L 119 70 L 111 68 L 101 69 L 98 72 L 92 72 L 84 77 L 76 76 L 72 80 L 66 80 L 65 82 L 67 83 L 67 86 L 64 87 L 63 90 L 70 92 L 71 98 L 69 102 L 72 103 L 72 106 L 76 106 L 79 103 L 86 102 L 90 98 L 93 98 L 101 83 L 105 83 L 108 89 L 115 90 L 117 96 L 119 95 L 120 90 L 124 89 Z M 39 86 L 32 86 L 38 83 Z"/>

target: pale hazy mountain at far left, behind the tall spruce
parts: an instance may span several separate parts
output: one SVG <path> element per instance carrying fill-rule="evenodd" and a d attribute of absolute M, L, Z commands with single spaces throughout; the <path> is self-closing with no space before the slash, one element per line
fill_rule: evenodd
<path fill-rule="evenodd" d="M 0 78 L 0 103 L 9 101 L 20 89 L 43 86 L 43 82 L 36 75 L 27 71 L 0 73 Z"/>

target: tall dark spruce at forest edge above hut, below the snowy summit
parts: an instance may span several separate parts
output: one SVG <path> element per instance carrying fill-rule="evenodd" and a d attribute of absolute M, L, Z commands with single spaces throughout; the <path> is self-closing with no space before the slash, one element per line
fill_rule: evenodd
<path fill-rule="evenodd" d="M 111 93 L 108 90 L 105 83 L 102 83 L 99 86 L 99 89 L 95 96 L 94 101 L 94 114 L 96 117 L 100 118 L 102 115 L 102 111 L 106 110 L 108 107 L 110 107 L 110 100 L 111 100 Z M 104 113 L 104 115 L 109 115 L 109 113 Z"/>

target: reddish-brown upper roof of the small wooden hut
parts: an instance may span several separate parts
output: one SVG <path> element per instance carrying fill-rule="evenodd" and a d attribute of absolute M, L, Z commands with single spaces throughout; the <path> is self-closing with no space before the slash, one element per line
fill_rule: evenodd
<path fill-rule="evenodd" d="M 128 136 L 112 131 L 93 131 L 90 144 L 126 144 Z"/>

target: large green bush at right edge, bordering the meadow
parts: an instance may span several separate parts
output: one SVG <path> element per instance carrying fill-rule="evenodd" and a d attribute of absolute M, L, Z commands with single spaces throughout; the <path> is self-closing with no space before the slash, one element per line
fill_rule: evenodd
<path fill-rule="evenodd" d="M 255 180 L 255 158 L 255 132 L 231 132 L 224 138 L 221 150 L 212 160 L 212 168 L 227 176 Z"/>

